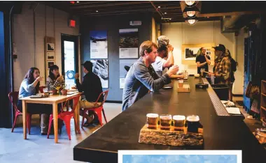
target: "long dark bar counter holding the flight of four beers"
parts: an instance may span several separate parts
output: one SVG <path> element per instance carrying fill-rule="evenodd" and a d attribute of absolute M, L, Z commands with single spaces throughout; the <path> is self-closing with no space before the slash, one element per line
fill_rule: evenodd
<path fill-rule="evenodd" d="M 234 116 L 217 116 L 207 90 L 195 88 L 202 79 L 189 77 L 190 93 L 173 89 L 149 93 L 109 123 L 73 148 L 73 159 L 83 162 L 118 162 L 118 150 L 242 150 L 242 162 L 266 162 L 266 151 L 243 121 Z M 108 108 L 106 108 L 108 109 Z M 202 148 L 181 148 L 139 143 L 139 132 L 146 114 L 181 114 L 200 116 L 204 127 Z M 177 153 L 178 154 L 178 153 Z"/>

